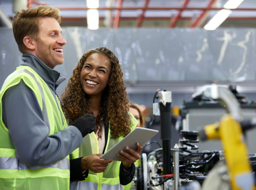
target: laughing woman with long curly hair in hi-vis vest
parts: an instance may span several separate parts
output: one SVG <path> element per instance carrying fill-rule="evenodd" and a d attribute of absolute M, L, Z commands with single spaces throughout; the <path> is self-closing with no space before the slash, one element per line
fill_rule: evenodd
<path fill-rule="evenodd" d="M 137 150 L 126 147 L 131 155 L 120 151 L 122 162 L 99 158 L 137 125 L 129 114 L 122 76 L 114 53 L 98 47 L 83 54 L 61 96 L 68 123 L 85 114 L 96 116 L 95 132 L 86 135 L 83 144 L 72 153 L 70 178 L 74 182 L 70 183 L 70 189 L 119 190 L 134 176 L 134 162 L 141 153 L 139 144 Z"/>

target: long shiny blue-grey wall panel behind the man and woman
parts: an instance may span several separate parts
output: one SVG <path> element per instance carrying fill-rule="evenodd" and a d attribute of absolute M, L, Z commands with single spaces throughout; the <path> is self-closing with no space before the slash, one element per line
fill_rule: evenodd
<path fill-rule="evenodd" d="M 86 50 L 106 46 L 119 58 L 126 81 L 255 80 L 253 29 L 63 27 L 63 37 L 65 62 L 56 70 L 66 78 Z M 0 48 L 2 85 L 22 62 L 12 30 L 0 29 Z"/>

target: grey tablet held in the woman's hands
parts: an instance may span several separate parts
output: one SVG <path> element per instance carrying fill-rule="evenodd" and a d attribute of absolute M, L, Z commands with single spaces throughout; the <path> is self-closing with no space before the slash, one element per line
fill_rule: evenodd
<path fill-rule="evenodd" d="M 127 153 L 129 153 L 128 150 L 125 150 L 125 147 L 130 147 L 133 150 L 137 150 L 136 143 L 140 143 L 140 145 L 143 145 L 147 143 L 152 137 L 154 137 L 156 134 L 158 134 L 159 131 L 153 130 L 153 129 L 146 129 L 146 128 L 136 128 L 131 133 L 129 133 L 122 141 L 120 141 L 118 144 L 113 146 L 109 149 L 106 153 L 101 155 L 101 159 L 113 159 L 116 161 L 122 161 L 120 157 L 118 157 L 116 154 L 120 154 L 120 151 L 123 150 Z"/>

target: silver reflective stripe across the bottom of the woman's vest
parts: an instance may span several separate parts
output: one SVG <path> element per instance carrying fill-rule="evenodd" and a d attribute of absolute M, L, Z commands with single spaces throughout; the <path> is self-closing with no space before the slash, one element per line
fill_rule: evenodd
<path fill-rule="evenodd" d="M 82 190 L 82 189 L 88 189 L 88 190 L 97 190 L 98 189 L 98 183 L 94 183 L 91 181 L 76 181 L 76 183 L 70 183 L 70 190 Z M 102 190 L 124 190 L 124 186 L 121 184 L 116 185 L 107 185 L 107 184 L 101 184 Z"/>

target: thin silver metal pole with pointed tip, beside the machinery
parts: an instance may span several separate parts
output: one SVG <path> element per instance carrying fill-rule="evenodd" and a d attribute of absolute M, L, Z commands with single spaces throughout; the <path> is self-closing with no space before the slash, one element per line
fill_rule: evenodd
<path fill-rule="evenodd" d="M 180 184 L 180 168 L 179 168 L 179 152 L 180 148 L 177 144 L 175 144 L 173 148 L 173 158 L 174 158 L 174 169 L 173 169 L 173 175 L 174 175 L 174 190 L 179 190 L 179 184 Z"/>

